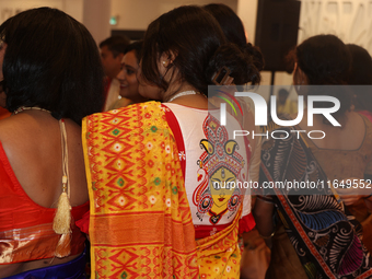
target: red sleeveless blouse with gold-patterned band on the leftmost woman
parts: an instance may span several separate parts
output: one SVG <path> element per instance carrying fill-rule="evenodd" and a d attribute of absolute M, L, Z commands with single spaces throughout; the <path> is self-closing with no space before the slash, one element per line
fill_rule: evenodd
<path fill-rule="evenodd" d="M 89 201 L 73 207 L 73 221 L 89 210 Z M 22 188 L 0 142 L 0 265 L 51 258 L 60 239 L 53 230 L 55 208 L 33 201 Z M 83 252 L 85 235 L 71 224 L 71 254 Z"/>

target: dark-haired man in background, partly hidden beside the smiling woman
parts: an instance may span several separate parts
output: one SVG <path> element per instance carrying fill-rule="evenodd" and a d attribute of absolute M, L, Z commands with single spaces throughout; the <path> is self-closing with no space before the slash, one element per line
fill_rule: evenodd
<path fill-rule="evenodd" d="M 103 112 L 108 111 L 119 98 L 120 84 L 116 77 L 121 70 L 121 60 L 128 45 L 129 39 L 124 36 L 111 36 L 100 43 L 101 60 L 106 74 Z"/>

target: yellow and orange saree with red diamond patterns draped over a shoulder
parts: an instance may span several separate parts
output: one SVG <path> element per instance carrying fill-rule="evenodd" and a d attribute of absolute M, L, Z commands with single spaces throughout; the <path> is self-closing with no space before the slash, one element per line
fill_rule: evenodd
<path fill-rule="evenodd" d="M 225 230 L 195 241 L 164 111 L 149 102 L 83 120 L 92 276 L 239 278 L 240 214 Z"/>

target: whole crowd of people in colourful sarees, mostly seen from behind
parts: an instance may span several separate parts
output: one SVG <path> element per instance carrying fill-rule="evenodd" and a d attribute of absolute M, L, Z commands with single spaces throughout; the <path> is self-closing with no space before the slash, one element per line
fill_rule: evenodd
<path fill-rule="evenodd" d="M 260 83 L 265 58 L 224 4 L 176 8 L 143 40 L 100 48 L 56 9 L 0 25 L 0 278 L 372 278 L 365 49 L 302 42 L 293 88 L 339 107 L 307 114 L 332 109 L 317 102 L 295 125 L 258 127 L 259 108 L 233 93 Z M 231 186 L 248 181 L 326 187 Z M 268 267 L 242 258 L 252 232 Z"/>

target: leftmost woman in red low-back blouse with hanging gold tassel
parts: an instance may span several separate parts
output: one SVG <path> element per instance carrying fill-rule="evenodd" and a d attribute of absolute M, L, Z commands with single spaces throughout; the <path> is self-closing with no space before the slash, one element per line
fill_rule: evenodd
<path fill-rule="evenodd" d="M 89 31 L 50 8 L 0 25 L 0 277 L 85 278 L 89 211 L 81 120 L 103 105 Z"/>

